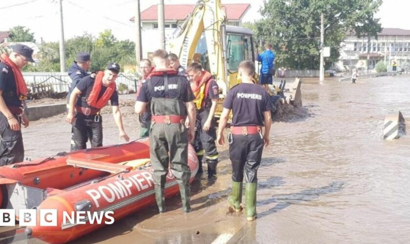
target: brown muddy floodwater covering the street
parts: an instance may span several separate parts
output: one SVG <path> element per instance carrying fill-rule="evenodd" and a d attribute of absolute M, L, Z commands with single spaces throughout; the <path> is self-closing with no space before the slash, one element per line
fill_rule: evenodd
<path fill-rule="evenodd" d="M 222 147 L 217 181 L 199 178 L 192 185 L 191 213 L 182 214 L 175 197 L 163 215 L 149 207 L 76 243 L 409 243 L 410 137 L 382 139 L 384 118 L 397 109 L 409 131 L 409 80 L 305 80 L 303 108 L 272 126 L 254 222 L 242 212 L 226 213 L 231 171 Z M 23 131 L 28 156 L 67 150 L 70 126 L 62 119 L 33 122 Z M 131 138 L 139 133 L 135 119 L 131 113 L 124 118 Z M 109 115 L 104 133 L 105 144 L 118 142 Z M 13 233 L 0 232 L 3 238 Z M 39 243 L 21 235 L 3 240 Z"/>

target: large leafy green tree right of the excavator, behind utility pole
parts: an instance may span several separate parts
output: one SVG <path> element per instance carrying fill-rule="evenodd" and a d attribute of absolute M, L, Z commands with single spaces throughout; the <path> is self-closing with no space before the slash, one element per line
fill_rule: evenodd
<path fill-rule="evenodd" d="M 256 22 L 256 38 L 273 45 L 276 63 L 295 69 L 317 69 L 320 49 L 320 15 L 325 15 L 325 46 L 330 57 L 325 67 L 338 61 L 340 43 L 353 29 L 367 0 L 268 0 L 260 9 L 262 20 Z"/>

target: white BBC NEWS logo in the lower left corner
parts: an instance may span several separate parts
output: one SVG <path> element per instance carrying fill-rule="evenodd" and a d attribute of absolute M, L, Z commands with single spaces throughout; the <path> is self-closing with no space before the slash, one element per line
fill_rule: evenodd
<path fill-rule="evenodd" d="M 40 209 L 39 213 L 36 209 L 20 209 L 19 225 L 36 226 L 38 214 L 40 214 L 40 226 L 57 226 L 57 209 Z M 114 224 L 113 215 L 113 211 L 63 211 L 62 224 Z M 0 209 L 0 226 L 15 225 L 16 211 L 14 209 Z"/>

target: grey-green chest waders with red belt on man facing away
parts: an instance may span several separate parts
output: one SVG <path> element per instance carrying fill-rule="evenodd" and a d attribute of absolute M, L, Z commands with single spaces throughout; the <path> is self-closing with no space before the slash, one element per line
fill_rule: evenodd
<path fill-rule="evenodd" d="M 185 103 L 181 99 L 182 81 L 178 78 L 177 96 L 169 97 L 168 75 L 164 74 L 164 97 L 154 98 L 151 81 L 150 158 L 154 169 L 155 199 L 160 213 L 165 211 L 165 183 L 168 168 L 177 179 L 184 212 L 190 212 L 191 171 L 188 167 L 188 130 L 184 126 Z"/>

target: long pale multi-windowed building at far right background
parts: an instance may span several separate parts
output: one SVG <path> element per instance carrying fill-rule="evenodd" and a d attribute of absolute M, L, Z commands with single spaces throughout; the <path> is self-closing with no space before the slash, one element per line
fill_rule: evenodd
<path fill-rule="evenodd" d="M 351 70 L 360 63 L 366 63 L 360 61 L 367 60 L 368 48 L 371 69 L 378 61 L 386 61 L 390 64 L 388 69 L 391 70 L 394 63 L 400 66 L 404 61 L 410 61 L 410 30 L 383 28 L 377 40 L 370 40 L 369 47 L 366 37 L 358 38 L 354 33 L 348 34 L 341 46 L 338 68 Z"/>

